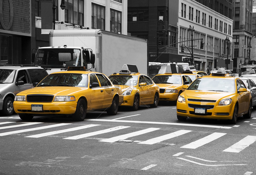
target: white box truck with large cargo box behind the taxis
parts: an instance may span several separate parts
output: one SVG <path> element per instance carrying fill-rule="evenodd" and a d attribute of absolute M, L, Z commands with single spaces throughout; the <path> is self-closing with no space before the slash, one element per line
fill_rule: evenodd
<path fill-rule="evenodd" d="M 40 47 L 32 62 L 48 73 L 85 66 L 107 76 L 124 64 L 135 64 L 147 74 L 147 40 L 101 29 L 51 30 L 50 47 Z"/>

